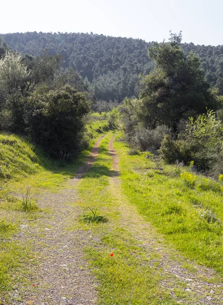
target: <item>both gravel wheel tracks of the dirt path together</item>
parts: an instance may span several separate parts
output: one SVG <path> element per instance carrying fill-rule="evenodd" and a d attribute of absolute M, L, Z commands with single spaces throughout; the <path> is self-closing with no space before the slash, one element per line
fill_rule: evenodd
<path fill-rule="evenodd" d="M 31 267 L 30 264 L 33 272 L 27 277 L 31 284 L 28 288 L 17 287 L 10 294 L 11 301 L 8 304 L 97 304 L 97 282 L 89 272 L 83 252 L 85 247 L 91 246 L 89 233 L 81 229 L 69 231 L 67 228 L 80 215 L 80 210 L 73 208 L 70 203 L 81 200 L 77 192 L 78 184 L 94 164 L 102 138 L 93 147 L 85 164 L 78 169 L 75 178 L 67 181 L 64 190 L 59 194 L 45 194 L 39 199 L 41 207 L 49 208 L 52 212 L 43 214 L 33 225 L 23 227 L 16 236 L 16 240 L 22 244 L 31 240 L 39 265 Z M 179 304 L 222 304 L 222 283 L 216 284 L 215 272 L 185 260 L 176 250 L 168 248 L 163 236 L 139 214 L 135 205 L 128 202 L 121 188 L 119 159 L 113 141 L 114 137 L 108 147 L 113 157 L 114 172 L 113 177 L 110 177 L 108 192 L 112 192 L 118 202 L 114 208 L 121 214 L 118 221 L 120 227 L 127 229 L 137 240 L 150 260 L 151 267 L 157 266 L 162 278 L 161 287 Z M 183 263 L 187 263 L 190 268 L 184 267 Z"/>

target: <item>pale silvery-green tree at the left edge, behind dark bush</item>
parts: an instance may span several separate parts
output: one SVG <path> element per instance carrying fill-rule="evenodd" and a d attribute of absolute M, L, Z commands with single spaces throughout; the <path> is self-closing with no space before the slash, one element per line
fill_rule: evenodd
<path fill-rule="evenodd" d="M 36 85 L 49 81 L 60 65 L 61 56 L 44 53 L 33 58 L 7 51 L 0 59 L 0 128 L 24 133 L 26 99 Z"/>

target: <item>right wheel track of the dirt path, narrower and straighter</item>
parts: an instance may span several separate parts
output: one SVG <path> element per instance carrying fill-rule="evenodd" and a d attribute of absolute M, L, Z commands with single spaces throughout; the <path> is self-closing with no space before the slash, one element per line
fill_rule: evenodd
<path fill-rule="evenodd" d="M 151 257 L 151 266 L 156 264 L 162 268 L 163 281 L 161 286 L 170 292 L 179 304 L 223 304 L 222 283 L 211 283 L 215 277 L 215 272 L 207 267 L 199 266 L 188 259 L 184 259 L 176 250 L 169 249 L 165 244 L 162 235 L 156 232 L 145 219 L 139 214 L 134 205 L 130 205 L 127 198 L 123 195 L 121 189 L 121 180 L 118 177 L 120 173 L 119 159 L 113 148 L 113 137 L 109 142 L 109 154 L 113 157 L 113 170 L 115 175 L 110 178 L 110 190 L 119 204 L 120 220 L 125 228 L 128 228 L 133 238 L 142 245 L 146 256 Z M 154 259 L 154 254 L 158 258 Z M 185 268 L 183 263 L 190 266 Z M 160 269 L 159 268 L 159 269 Z M 160 270 L 158 271 L 160 272 Z M 210 281 L 204 280 L 204 278 Z M 213 280 L 213 282 L 215 282 Z M 180 298 L 176 296 L 175 291 L 181 291 Z"/>

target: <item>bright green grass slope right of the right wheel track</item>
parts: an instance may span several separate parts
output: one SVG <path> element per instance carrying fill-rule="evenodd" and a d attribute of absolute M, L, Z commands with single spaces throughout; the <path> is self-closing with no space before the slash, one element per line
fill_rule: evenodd
<path fill-rule="evenodd" d="M 160 163 L 153 155 L 129 156 L 129 148 L 116 141 L 124 193 L 166 240 L 190 259 L 223 275 L 223 209 L 221 186 L 197 175 L 185 177 L 179 168 Z M 207 221 L 209 210 L 218 221 Z"/>

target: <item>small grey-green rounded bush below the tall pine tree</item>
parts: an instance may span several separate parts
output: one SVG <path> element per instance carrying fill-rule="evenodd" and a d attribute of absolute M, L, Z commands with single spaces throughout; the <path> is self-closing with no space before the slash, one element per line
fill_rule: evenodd
<path fill-rule="evenodd" d="M 165 135 L 171 136 L 171 129 L 166 125 L 159 125 L 156 129 L 140 128 L 136 131 L 135 142 L 140 149 L 155 153 Z"/>

